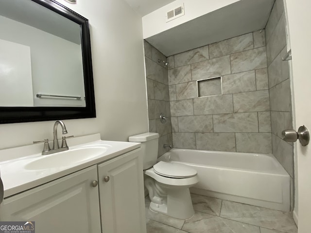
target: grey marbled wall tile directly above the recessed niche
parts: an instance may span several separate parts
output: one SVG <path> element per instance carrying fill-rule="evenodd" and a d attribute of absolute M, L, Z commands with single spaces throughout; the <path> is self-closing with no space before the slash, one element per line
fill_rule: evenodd
<path fill-rule="evenodd" d="M 230 74 L 230 56 L 191 64 L 191 73 L 193 81 Z"/>

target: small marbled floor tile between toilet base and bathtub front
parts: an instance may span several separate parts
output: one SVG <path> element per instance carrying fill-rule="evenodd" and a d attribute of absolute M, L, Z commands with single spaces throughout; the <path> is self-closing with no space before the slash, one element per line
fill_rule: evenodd
<path fill-rule="evenodd" d="M 210 215 L 220 214 L 222 200 L 191 194 L 193 209 Z"/>

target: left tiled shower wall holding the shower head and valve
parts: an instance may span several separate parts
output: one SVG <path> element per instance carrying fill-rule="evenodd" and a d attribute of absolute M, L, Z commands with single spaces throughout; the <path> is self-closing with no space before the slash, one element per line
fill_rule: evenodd
<path fill-rule="evenodd" d="M 167 58 L 148 42 L 144 41 L 145 66 L 148 96 L 149 132 L 159 133 L 158 156 L 169 149 L 164 144 L 173 146 L 170 97 L 167 67 L 163 61 Z M 166 123 L 160 122 L 160 114 L 166 117 Z"/>

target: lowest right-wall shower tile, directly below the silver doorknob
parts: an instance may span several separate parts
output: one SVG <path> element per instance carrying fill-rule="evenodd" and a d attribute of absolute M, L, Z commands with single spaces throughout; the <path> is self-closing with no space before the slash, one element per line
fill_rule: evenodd
<path fill-rule="evenodd" d="M 272 133 L 272 149 L 273 155 L 276 157 L 278 162 L 280 162 L 288 174 L 293 177 L 293 146 Z"/>

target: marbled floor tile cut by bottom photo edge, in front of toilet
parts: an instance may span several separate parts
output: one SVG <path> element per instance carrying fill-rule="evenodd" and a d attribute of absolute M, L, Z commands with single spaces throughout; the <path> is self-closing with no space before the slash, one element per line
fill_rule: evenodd
<path fill-rule="evenodd" d="M 259 227 L 214 216 L 196 222 L 185 222 L 183 230 L 190 233 L 260 233 Z"/>

